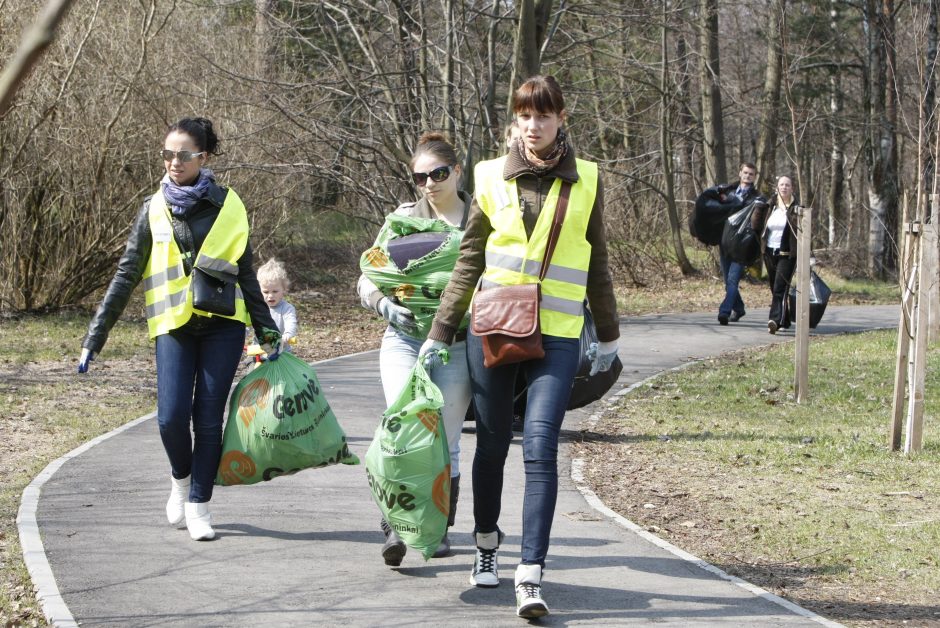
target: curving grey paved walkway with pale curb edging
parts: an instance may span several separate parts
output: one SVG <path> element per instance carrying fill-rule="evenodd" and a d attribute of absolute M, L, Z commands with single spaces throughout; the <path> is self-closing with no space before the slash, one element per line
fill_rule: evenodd
<path fill-rule="evenodd" d="M 896 324 L 896 307 L 833 307 L 815 333 Z M 729 349 L 792 339 L 770 336 L 765 325 L 756 311 L 727 327 L 713 314 L 625 319 L 622 384 Z M 316 365 L 360 458 L 383 410 L 377 362 L 373 351 Z M 569 414 L 566 431 L 590 421 L 586 410 Z M 164 518 L 166 459 L 156 421 L 142 417 L 51 464 L 24 492 L 24 552 L 47 614 L 63 626 L 518 626 L 519 442 L 507 467 L 501 523 L 508 537 L 497 589 L 468 583 L 473 434 L 463 435 L 462 448 L 455 555 L 424 562 L 412 552 L 393 570 L 379 556 L 379 514 L 362 466 L 217 488 L 217 539 L 190 541 Z M 544 585 L 552 614 L 541 625 L 836 625 L 709 571 L 611 516 L 579 491 L 578 466 L 564 448 Z"/>

